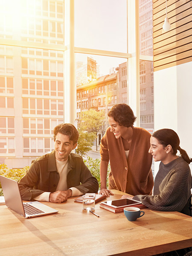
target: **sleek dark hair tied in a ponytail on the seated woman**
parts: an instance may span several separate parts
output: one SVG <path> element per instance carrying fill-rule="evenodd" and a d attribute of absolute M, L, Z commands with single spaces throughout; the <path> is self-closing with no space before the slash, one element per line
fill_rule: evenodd
<path fill-rule="evenodd" d="M 167 145 L 172 146 L 172 154 L 177 154 L 177 150 L 180 151 L 181 157 L 189 164 L 192 162 L 192 158 L 188 156 L 186 151 L 180 148 L 180 139 L 175 131 L 172 129 L 160 129 L 152 134 L 152 137 L 156 138 L 158 142 L 166 147 Z"/>

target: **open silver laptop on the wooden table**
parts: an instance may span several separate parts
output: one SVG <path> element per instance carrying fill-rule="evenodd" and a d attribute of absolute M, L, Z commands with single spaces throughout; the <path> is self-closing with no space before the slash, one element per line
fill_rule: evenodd
<path fill-rule="evenodd" d="M 0 175 L 6 206 L 25 218 L 32 218 L 58 212 L 38 201 L 23 203 L 18 182 Z"/>

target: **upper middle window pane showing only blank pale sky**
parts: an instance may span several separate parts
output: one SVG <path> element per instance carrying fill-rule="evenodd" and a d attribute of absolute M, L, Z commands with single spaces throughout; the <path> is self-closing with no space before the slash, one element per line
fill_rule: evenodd
<path fill-rule="evenodd" d="M 75 46 L 127 52 L 127 1 L 75 0 Z"/>

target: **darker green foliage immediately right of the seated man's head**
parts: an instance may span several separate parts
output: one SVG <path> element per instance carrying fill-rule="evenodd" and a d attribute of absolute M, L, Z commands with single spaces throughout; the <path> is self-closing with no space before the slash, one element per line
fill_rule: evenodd
<path fill-rule="evenodd" d="M 95 140 L 95 134 L 88 133 L 87 131 L 82 131 L 80 128 L 79 131 L 79 140 L 76 148 L 76 153 L 84 156 L 88 151 L 92 150 L 93 140 Z"/>

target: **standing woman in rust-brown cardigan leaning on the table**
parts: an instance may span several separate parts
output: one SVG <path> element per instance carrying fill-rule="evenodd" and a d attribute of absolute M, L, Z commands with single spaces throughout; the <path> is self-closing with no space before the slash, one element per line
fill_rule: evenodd
<path fill-rule="evenodd" d="M 148 154 L 151 134 L 134 127 L 135 120 L 132 109 L 126 104 L 114 105 L 108 113 L 110 127 L 100 143 L 100 194 L 113 195 L 110 189 L 117 189 L 131 195 L 151 195 L 154 183 L 152 156 Z M 107 189 L 109 161 L 111 172 Z"/>

